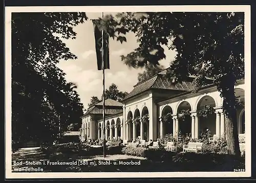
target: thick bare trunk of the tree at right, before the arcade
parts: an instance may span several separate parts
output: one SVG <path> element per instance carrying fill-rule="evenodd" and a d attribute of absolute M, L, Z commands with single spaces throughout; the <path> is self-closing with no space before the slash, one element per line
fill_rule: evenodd
<path fill-rule="evenodd" d="M 225 128 L 227 138 L 228 154 L 240 156 L 239 139 L 238 139 L 238 123 L 236 110 L 236 96 L 234 95 L 234 87 L 230 85 L 224 96 L 223 107 L 226 114 Z"/>

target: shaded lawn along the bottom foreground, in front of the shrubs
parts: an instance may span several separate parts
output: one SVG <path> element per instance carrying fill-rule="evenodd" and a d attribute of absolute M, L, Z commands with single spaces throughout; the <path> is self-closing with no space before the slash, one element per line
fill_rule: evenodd
<path fill-rule="evenodd" d="M 176 153 L 161 150 L 110 146 L 62 144 L 44 148 L 23 148 L 12 154 L 13 169 L 34 167 L 37 172 L 176 172 L 232 171 L 233 159 L 223 154 Z M 137 154 L 137 155 L 135 155 Z M 40 165 L 26 165 L 39 162 Z M 17 164 L 22 162 L 23 164 Z M 197 165 L 197 166 L 195 166 Z M 236 166 L 244 168 L 244 159 Z"/>

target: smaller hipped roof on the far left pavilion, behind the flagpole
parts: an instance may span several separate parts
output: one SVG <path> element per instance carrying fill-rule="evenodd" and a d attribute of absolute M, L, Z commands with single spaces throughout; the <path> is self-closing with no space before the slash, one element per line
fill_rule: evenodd
<path fill-rule="evenodd" d="M 89 108 L 86 113 L 83 116 L 89 115 L 89 114 L 103 114 L 103 108 L 102 108 L 103 102 L 96 103 L 93 107 Z M 114 115 L 117 113 L 121 113 L 123 104 L 112 99 L 106 99 L 105 100 L 105 114 L 106 115 Z M 82 117 L 83 117 L 82 116 Z"/>

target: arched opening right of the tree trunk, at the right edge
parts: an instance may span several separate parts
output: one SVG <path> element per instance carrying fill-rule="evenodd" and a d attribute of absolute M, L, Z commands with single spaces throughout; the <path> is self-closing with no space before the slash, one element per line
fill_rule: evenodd
<path fill-rule="evenodd" d="M 237 107 L 237 121 L 238 121 L 238 133 L 245 133 L 245 93 L 241 88 L 234 89 L 235 96 L 240 100 L 240 105 Z"/>

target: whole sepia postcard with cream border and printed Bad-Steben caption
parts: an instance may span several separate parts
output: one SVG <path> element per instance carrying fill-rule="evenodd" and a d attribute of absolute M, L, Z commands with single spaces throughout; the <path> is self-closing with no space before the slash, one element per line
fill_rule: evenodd
<path fill-rule="evenodd" d="M 251 175 L 250 6 L 5 11 L 7 177 Z"/>

